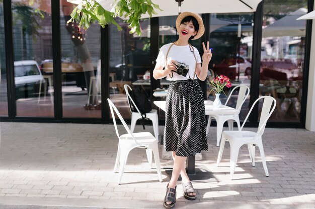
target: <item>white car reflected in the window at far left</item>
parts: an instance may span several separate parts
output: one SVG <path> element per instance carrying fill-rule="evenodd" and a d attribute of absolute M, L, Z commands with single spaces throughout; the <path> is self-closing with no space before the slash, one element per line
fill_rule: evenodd
<path fill-rule="evenodd" d="M 39 84 L 45 83 L 39 66 L 34 60 L 14 62 L 16 98 L 28 98 L 38 94 Z"/>

